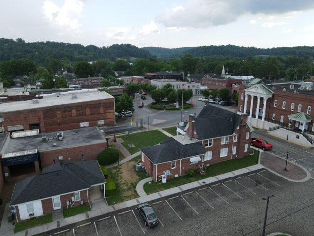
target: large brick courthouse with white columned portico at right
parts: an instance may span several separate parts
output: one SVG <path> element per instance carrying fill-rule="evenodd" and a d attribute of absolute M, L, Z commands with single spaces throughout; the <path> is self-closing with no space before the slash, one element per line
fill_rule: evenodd
<path fill-rule="evenodd" d="M 314 132 L 312 82 L 273 82 L 239 88 L 238 112 L 253 126 L 268 129 L 282 124 L 299 132 Z M 258 108 L 258 109 L 257 109 Z M 291 121 L 289 121 L 291 120 Z"/>

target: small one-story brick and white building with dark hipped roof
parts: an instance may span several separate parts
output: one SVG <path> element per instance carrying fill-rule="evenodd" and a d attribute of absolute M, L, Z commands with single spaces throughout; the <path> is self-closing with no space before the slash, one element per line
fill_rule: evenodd
<path fill-rule="evenodd" d="M 10 206 L 17 221 L 89 204 L 93 189 L 105 197 L 105 177 L 97 161 L 65 162 L 15 185 Z M 44 191 L 43 191 L 44 190 Z"/>

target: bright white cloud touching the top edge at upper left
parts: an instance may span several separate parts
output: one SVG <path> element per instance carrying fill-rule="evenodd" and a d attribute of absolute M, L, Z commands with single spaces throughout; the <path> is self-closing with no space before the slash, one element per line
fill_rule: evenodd
<path fill-rule="evenodd" d="M 46 19 L 54 27 L 64 30 L 78 29 L 78 15 L 83 11 L 83 2 L 80 0 L 65 0 L 61 7 L 58 7 L 51 0 L 45 0 L 42 10 Z"/>

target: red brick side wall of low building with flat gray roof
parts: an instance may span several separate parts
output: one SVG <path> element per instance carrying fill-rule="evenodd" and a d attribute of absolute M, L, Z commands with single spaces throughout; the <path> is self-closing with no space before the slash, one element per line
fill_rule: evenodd
<path fill-rule="evenodd" d="M 107 148 L 107 143 L 104 141 L 99 144 L 90 144 L 72 148 L 61 148 L 57 150 L 42 151 L 39 153 L 42 168 L 50 166 L 59 161 L 59 156 L 63 156 L 63 160 L 81 161 L 81 156 L 84 154 L 86 161 L 96 160 L 99 153 Z"/>

